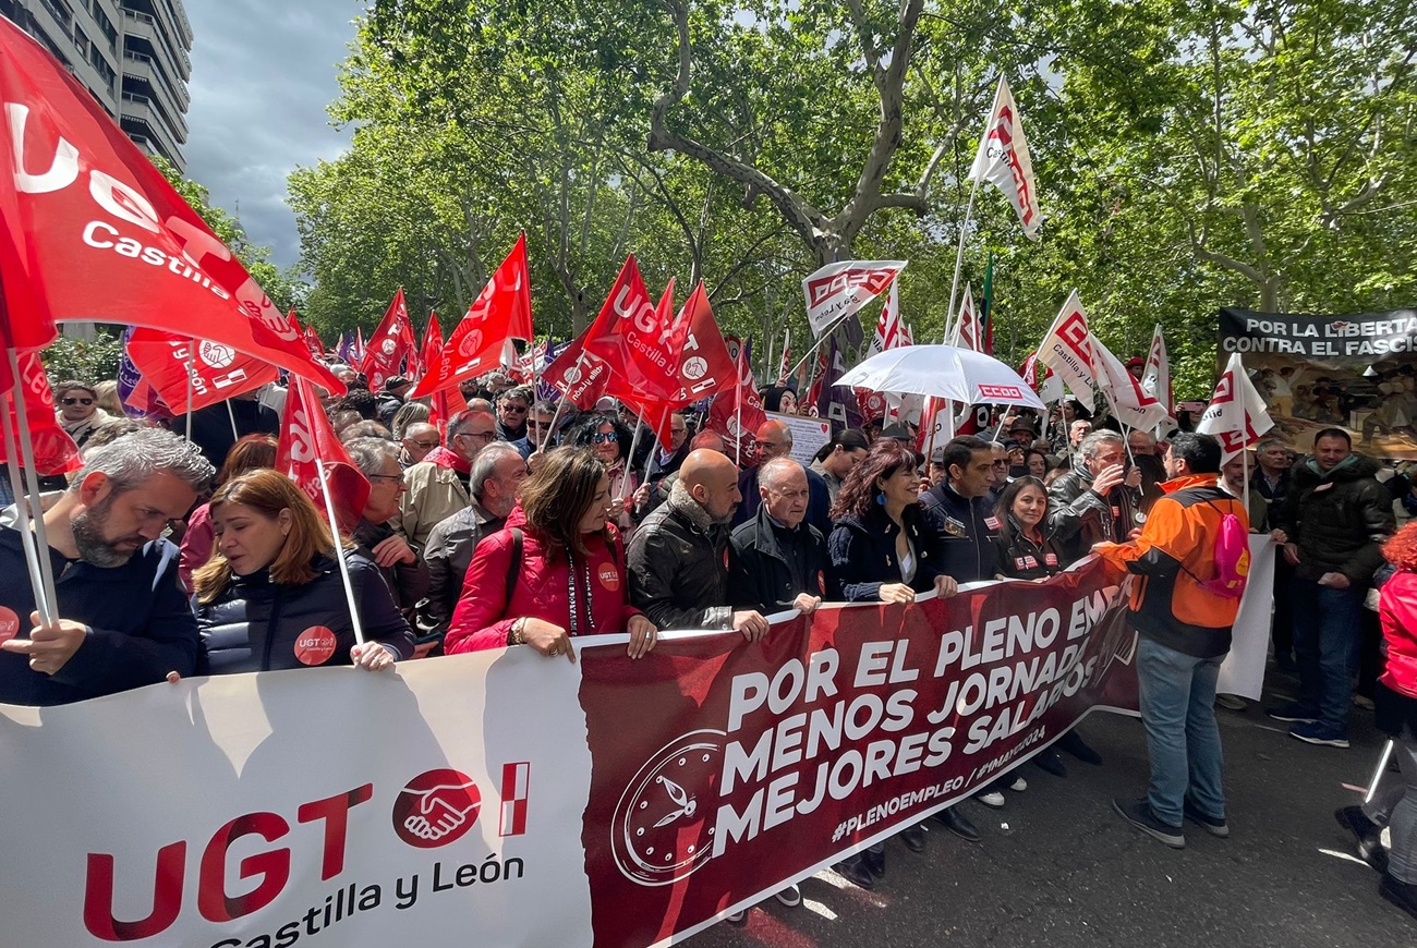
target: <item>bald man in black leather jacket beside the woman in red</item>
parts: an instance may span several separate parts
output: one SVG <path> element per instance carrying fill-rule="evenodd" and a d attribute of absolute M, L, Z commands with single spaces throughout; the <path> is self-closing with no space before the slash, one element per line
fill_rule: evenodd
<path fill-rule="evenodd" d="M 717 451 L 691 451 L 669 500 L 629 544 L 629 601 L 660 629 L 733 629 L 750 642 L 768 632 L 754 609 L 728 604 L 728 521 L 738 509 L 738 469 Z"/>

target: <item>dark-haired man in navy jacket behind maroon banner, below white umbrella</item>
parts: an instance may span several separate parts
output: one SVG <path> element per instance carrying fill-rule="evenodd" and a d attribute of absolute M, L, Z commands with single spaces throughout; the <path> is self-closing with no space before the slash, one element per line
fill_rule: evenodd
<path fill-rule="evenodd" d="M 993 446 L 982 438 L 962 435 L 935 453 L 945 479 L 920 495 L 935 530 L 935 548 L 939 550 L 935 565 L 955 582 L 992 580 L 998 557 L 993 536 L 999 531 L 990 493 Z"/>

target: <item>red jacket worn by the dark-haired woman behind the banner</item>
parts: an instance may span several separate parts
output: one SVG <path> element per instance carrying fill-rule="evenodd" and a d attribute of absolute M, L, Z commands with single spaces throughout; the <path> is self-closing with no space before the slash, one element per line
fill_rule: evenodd
<path fill-rule="evenodd" d="M 524 524 L 519 507 L 507 520 L 507 529 L 483 537 L 478 544 L 444 641 L 448 655 L 504 646 L 512 623 L 521 616 L 544 619 L 571 631 L 570 567 L 565 553 L 557 550 L 548 555 L 546 541 L 526 530 Z M 523 530 L 520 567 L 512 563 L 512 527 Z M 599 534 L 585 537 L 589 577 L 585 557 L 575 557 L 575 598 L 580 612 L 577 635 L 623 632 L 629 618 L 639 615 L 639 609 L 632 608 L 626 598 L 625 548 L 614 526 L 611 537 L 614 546 L 606 544 Z M 512 602 L 507 602 L 507 572 L 513 568 L 517 570 L 517 580 Z M 585 621 L 587 578 L 591 587 L 589 628 Z"/>

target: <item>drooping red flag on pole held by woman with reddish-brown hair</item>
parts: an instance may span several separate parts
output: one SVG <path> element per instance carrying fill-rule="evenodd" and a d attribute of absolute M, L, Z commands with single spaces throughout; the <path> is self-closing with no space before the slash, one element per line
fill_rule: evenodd
<path fill-rule="evenodd" d="M 324 510 L 316 459 L 324 462 L 324 469 L 330 475 L 330 496 L 334 499 L 339 531 L 349 533 L 368 503 L 368 479 L 354 466 L 344 445 L 334 436 L 324 405 L 316 398 L 310 383 L 305 378 L 292 378 L 290 390 L 285 395 L 275 469 L 293 480 L 316 507 Z"/>

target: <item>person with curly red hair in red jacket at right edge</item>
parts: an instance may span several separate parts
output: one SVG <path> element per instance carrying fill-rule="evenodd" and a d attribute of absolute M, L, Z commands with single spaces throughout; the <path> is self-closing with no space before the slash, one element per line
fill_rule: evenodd
<path fill-rule="evenodd" d="M 1370 803 L 1345 806 L 1335 816 L 1357 836 L 1359 856 L 1383 869 L 1377 890 L 1417 917 L 1417 523 L 1408 523 L 1383 547 L 1397 572 L 1383 584 L 1377 615 L 1387 660 L 1373 693 L 1377 730 L 1393 738 L 1400 777 L 1386 774 Z M 1383 825 L 1393 847 L 1383 857 Z"/>

